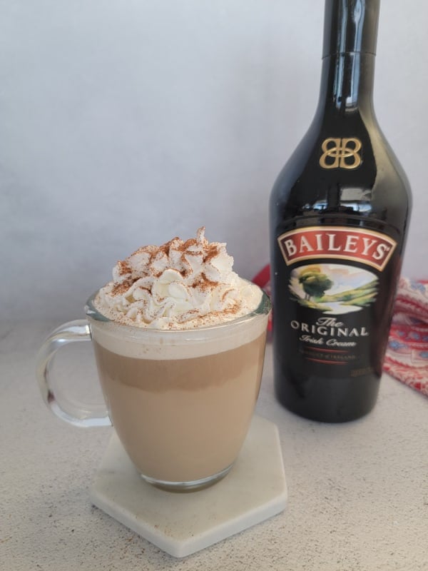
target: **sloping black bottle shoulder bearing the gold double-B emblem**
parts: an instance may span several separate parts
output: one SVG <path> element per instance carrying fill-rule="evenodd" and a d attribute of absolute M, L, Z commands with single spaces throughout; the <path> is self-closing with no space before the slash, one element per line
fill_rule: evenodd
<path fill-rule="evenodd" d="M 373 115 L 315 117 L 280 171 L 270 195 L 271 216 L 347 213 L 408 215 L 409 181 Z"/>

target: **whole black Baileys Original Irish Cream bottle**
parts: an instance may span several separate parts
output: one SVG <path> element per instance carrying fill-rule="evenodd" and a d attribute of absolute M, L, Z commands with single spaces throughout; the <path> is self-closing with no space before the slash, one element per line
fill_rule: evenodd
<path fill-rule="evenodd" d="M 326 0 L 320 99 L 270 196 L 275 393 L 342 422 L 377 399 L 411 195 L 374 116 L 379 0 Z"/>

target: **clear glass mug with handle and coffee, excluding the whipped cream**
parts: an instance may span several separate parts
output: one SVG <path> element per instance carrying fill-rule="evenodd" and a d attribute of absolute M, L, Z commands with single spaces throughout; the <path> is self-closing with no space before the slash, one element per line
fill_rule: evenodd
<path fill-rule="evenodd" d="M 54 330 L 37 357 L 46 405 L 77 426 L 113 425 L 144 480 L 196 490 L 224 477 L 247 435 L 260 390 L 270 300 L 235 320 L 189 330 L 122 325 L 93 306 Z M 51 363 L 92 340 L 105 405 L 73 408 Z M 70 413 L 70 410 L 73 412 Z"/>

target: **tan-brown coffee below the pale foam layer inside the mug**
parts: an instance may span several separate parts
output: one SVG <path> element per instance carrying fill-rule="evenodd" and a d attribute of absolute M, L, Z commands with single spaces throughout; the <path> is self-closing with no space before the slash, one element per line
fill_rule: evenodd
<path fill-rule="evenodd" d="M 143 475 L 188 482 L 233 463 L 260 389 L 264 334 L 186 359 L 130 358 L 96 342 L 94 348 L 112 423 Z"/>

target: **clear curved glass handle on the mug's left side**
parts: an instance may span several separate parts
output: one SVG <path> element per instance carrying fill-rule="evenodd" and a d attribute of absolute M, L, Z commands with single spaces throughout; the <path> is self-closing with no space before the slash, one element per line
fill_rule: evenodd
<path fill-rule="evenodd" d="M 63 345 L 75 341 L 91 341 L 91 329 L 88 320 L 77 319 L 63 323 L 46 338 L 36 358 L 36 376 L 41 395 L 52 412 L 67 423 L 81 427 L 111 426 L 105 403 L 103 405 L 76 407 L 75 403 L 71 403 L 65 395 L 61 395 L 61 391 L 56 386 L 54 375 L 51 375 L 51 363 L 56 351 Z M 73 410 L 73 414 L 68 410 Z"/>

